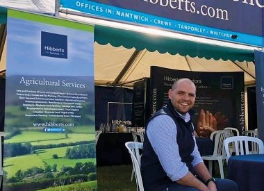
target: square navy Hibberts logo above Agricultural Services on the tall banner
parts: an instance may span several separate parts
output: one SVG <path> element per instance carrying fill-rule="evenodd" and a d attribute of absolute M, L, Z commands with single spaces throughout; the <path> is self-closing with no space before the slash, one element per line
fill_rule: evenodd
<path fill-rule="evenodd" d="M 41 56 L 67 59 L 67 35 L 41 31 Z"/>

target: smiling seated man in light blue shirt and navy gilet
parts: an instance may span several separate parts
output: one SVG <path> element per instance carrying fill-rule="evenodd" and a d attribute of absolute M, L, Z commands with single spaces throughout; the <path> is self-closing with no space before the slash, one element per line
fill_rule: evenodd
<path fill-rule="evenodd" d="M 168 94 L 167 106 L 147 124 L 141 158 L 145 190 L 238 190 L 233 181 L 215 182 L 201 159 L 192 125 L 195 84 L 181 78 Z"/>

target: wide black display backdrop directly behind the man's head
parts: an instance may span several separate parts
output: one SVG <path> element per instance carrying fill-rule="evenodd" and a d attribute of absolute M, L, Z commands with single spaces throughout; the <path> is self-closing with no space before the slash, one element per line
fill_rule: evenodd
<path fill-rule="evenodd" d="M 150 73 L 150 112 L 155 113 L 165 106 L 168 90 L 179 78 L 190 78 L 197 88 L 195 117 L 197 128 L 202 113 L 212 113 L 217 121 L 215 130 L 225 127 L 238 128 L 240 135 L 245 133 L 245 92 L 243 72 L 190 72 L 163 67 L 151 67 Z M 208 135 L 210 136 L 210 135 Z"/>

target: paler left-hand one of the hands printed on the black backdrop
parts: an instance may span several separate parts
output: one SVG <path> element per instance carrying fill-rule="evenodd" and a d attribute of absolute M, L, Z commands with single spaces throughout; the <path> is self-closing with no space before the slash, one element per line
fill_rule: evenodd
<path fill-rule="evenodd" d="M 213 131 L 217 130 L 217 120 L 213 117 L 212 113 L 203 109 L 200 110 L 197 121 L 197 134 L 200 137 L 209 138 Z"/>

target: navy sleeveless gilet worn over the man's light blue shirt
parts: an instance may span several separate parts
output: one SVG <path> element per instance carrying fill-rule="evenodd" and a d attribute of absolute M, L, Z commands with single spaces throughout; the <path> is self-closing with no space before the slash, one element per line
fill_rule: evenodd
<path fill-rule="evenodd" d="M 192 116 L 194 115 L 194 112 L 193 110 L 190 110 L 188 113 L 190 114 L 191 119 L 186 123 L 184 119 L 182 119 L 179 114 L 176 113 L 170 99 L 168 99 L 167 106 L 164 106 L 158 110 L 158 112 L 156 112 L 149 119 L 149 122 L 158 115 L 168 115 L 172 117 L 177 128 L 176 142 L 179 145 L 179 155 L 181 156 L 181 161 L 187 165 L 190 172 L 193 172 L 191 165 L 193 156 L 191 156 L 191 153 L 195 149 L 195 141 L 193 140 L 194 130 L 192 127 Z M 149 142 L 149 138 L 147 137 L 147 129 L 142 150 L 141 174 L 146 191 L 163 190 L 168 186 L 175 184 L 175 182 L 172 181 L 169 176 L 167 176 L 163 167 L 160 165 L 158 156 L 156 155 Z"/>

